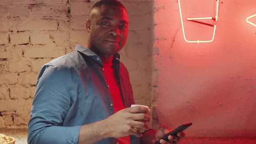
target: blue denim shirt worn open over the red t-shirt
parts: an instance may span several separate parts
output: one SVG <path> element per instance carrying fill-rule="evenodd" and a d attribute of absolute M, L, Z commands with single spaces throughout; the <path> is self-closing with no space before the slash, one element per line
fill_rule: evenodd
<path fill-rule="evenodd" d="M 125 108 L 135 104 L 128 71 L 113 59 Z M 77 144 L 80 127 L 114 114 L 112 96 L 106 83 L 103 63 L 90 49 L 75 50 L 43 65 L 36 82 L 28 144 Z M 131 144 L 140 144 L 133 135 Z M 116 144 L 113 137 L 95 144 Z"/>

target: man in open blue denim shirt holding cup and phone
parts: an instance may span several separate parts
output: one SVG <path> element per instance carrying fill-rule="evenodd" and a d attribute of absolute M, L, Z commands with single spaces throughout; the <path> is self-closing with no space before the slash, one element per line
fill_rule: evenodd
<path fill-rule="evenodd" d="M 135 102 L 129 75 L 117 53 L 128 35 L 125 7 L 117 0 L 95 3 L 86 28 L 87 48 L 76 46 L 39 73 L 28 143 L 154 144 L 170 129 L 149 130 L 150 110 L 130 107 Z M 161 144 L 176 143 L 179 137 L 169 140 Z"/>

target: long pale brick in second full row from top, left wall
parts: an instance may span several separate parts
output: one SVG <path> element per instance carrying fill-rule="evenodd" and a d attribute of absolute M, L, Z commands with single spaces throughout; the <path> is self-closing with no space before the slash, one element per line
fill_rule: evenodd
<path fill-rule="evenodd" d="M 17 25 L 18 31 L 40 31 L 40 30 L 57 30 L 58 21 L 57 20 L 20 20 Z"/>

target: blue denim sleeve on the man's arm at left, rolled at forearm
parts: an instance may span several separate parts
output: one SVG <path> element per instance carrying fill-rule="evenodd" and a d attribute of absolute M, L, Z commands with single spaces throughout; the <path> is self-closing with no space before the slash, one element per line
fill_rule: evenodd
<path fill-rule="evenodd" d="M 43 66 L 31 108 L 28 144 L 78 143 L 81 126 L 62 126 L 72 103 L 65 85 L 68 75 L 68 69 Z"/>

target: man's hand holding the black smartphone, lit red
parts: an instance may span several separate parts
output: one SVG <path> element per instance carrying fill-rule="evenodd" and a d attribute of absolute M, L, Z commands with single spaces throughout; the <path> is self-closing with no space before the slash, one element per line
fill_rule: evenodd
<path fill-rule="evenodd" d="M 163 125 L 161 126 L 155 134 L 155 139 L 153 140 L 153 143 L 157 142 L 160 138 L 164 137 L 166 134 L 171 132 L 172 130 L 168 128 L 167 126 Z M 180 141 L 180 137 L 185 137 L 185 133 L 178 132 L 177 136 L 169 135 L 168 139 L 169 141 L 164 141 L 163 139 L 160 140 L 160 144 L 176 144 L 178 141 Z"/>

